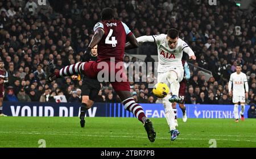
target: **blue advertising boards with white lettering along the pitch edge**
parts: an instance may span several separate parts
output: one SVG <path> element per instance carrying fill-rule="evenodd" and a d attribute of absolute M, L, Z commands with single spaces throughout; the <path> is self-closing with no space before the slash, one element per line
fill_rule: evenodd
<path fill-rule="evenodd" d="M 164 118 L 163 104 L 141 104 L 148 118 Z M 186 104 L 188 118 L 234 118 L 233 105 Z M 3 102 L 8 116 L 79 116 L 80 103 Z M 245 118 L 247 110 L 245 107 Z M 177 108 L 178 118 L 182 112 Z M 239 108 L 239 111 L 241 107 Z M 121 103 L 94 103 L 86 116 L 134 117 Z"/>

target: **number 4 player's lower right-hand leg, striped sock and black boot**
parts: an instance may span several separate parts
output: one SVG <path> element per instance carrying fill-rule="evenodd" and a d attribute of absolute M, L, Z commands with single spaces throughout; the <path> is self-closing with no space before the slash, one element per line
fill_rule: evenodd
<path fill-rule="evenodd" d="M 136 103 L 133 97 L 125 99 L 122 103 L 126 110 L 133 112 L 136 118 L 143 123 L 144 128 L 146 129 L 147 132 L 148 139 L 151 142 L 154 142 L 156 136 L 155 129 L 150 119 L 146 118 L 146 115 L 144 114 L 141 105 Z"/>

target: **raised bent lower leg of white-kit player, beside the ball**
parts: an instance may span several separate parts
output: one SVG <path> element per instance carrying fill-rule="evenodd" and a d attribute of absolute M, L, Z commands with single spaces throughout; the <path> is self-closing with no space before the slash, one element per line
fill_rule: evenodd
<path fill-rule="evenodd" d="M 170 83 L 170 87 L 172 90 L 172 97 L 169 99 L 171 103 L 180 102 L 180 98 L 179 98 L 180 83 L 177 80 L 178 80 L 178 77 L 176 72 L 172 70 L 168 72 L 167 81 Z"/>

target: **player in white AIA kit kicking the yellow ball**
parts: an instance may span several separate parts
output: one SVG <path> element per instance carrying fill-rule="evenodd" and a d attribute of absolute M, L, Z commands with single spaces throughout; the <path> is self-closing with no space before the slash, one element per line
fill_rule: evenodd
<path fill-rule="evenodd" d="M 172 28 L 166 34 L 141 36 L 139 43 L 154 42 L 158 47 L 158 82 L 164 82 L 171 88 L 170 93 L 162 99 L 166 120 L 170 127 L 171 140 L 175 140 L 179 131 L 175 128 L 175 114 L 172 109 L 173 102 L 180 102 L 179 82 L 183 80 L 184 68 L 181 62 L 183 51 L 189 58 L 196 60 L 195 53 L 185 41 L 179 38 L 179 32 Z M 127 47 L 127 45 L 126 45 Z"/>

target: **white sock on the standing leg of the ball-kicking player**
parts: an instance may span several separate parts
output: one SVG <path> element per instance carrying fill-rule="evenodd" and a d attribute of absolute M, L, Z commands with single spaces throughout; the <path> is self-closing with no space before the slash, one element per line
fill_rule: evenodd
<path fill-rule="evenodd" d="M 174 110 L 172 109 L 172 103 L 169 102 L 170 98 L 171 98 L 171 95 L 168 94 L 166 97 L 162 99 L 162 101 L 164 105 L 164 112 L 166 113 L 166 120 L 171 131 L 172 129 L 176 129 L 176 128 L 175 128 L 175 121 L 174 121 L 174 118 L 175 118 Z"/>

